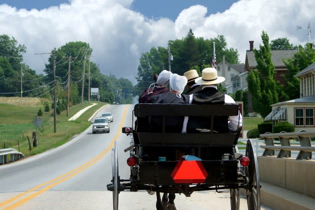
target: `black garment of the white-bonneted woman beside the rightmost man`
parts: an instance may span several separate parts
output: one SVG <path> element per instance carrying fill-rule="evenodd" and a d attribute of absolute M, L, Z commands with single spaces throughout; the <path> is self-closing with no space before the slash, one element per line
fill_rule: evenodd
<path fill-rule="evenodd" d="M 164 92 L 159 95 L 151 97 L 150 103 L 189 103 L 189 95 L 181 94 L 181 97 L 177 97 L 178 94 L 171 92 Z M 182 123 L 184 117 L 180 116 L 167 116 L 165 119 L 165 131 L 166 132 L 181 132 Z M 150 127 L 152 131 L 160 132 L 162 130 L 163 120 L 161 116 L 152 116 L 149 119 Z"/>

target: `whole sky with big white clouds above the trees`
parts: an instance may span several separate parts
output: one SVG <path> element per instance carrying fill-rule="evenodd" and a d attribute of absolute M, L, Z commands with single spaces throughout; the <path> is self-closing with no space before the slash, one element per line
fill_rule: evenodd
<path fill-rule="evenodd" d="M 0 0 L 0 34 L 27 47 L 24 61 L 37 73 L 48 56 L 34 53 L 85 41 L 102 73 L 135 83 L 141 53 L 166 47 L 189 28 L 196 37 L 224 35 L 242 63 L 248 41 L 258 48 L 262 30 L 270 40 L 304 45 L 308 23 L 315 24 L 313 8 L 314 0 Z"/>

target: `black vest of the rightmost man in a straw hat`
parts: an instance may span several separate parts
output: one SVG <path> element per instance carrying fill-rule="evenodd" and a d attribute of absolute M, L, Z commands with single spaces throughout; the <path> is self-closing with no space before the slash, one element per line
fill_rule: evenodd
<path fill-rule="evenodd" d="M 225 94 L 214 87 L 204 87 L 193 93 L 192 103 L 209 104 L 224 103 Z M 213 130 L 217 132 L 228 132 L 228 116 L 214 116 Z M 189 117 L 187 132 L 197 132 L 199 129 L 210 129 L 211 119 L 209 117 Z"/>

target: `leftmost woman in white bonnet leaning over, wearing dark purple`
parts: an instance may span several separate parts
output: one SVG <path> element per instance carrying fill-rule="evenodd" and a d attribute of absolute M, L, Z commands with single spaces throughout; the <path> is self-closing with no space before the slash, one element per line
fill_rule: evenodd
<path fill-rule="evenodd" d="M 169 76 L 172 73 L 168 70 L 162 70 L 158 76 L 156 73 L 153 74 L 154 83 L 150 84 L 150 86 L 143 90 L 141 95 L 139 96 L 138 102 L 139 103 L 147 103 L 151 96 L 158 95 L 163 92 L 168 92 L 169 89 L 167 88 L 169 82 Z"/>

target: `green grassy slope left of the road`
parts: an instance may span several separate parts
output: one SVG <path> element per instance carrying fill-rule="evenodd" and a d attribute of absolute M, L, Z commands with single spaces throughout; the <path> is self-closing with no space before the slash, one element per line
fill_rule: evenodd
<path fill-rule="evenodd" d="M 24 98 L 25 100 L 26 98 Z M 92 101 L 93 102 L 93 101 Z M 61 111 L 60 115 L 56 115 L 56 132 L 53 132 L 53 116 L 52 109 L 49 112 L 43 111 L 43 124 L 38 129 L 32 120 L 35 119 L 38 109 L 43 109 L 43 104 L 33 102 L 27 106 L 18 104 L 0 104 L 0 148 L 15 148 L 22 152 L 25 156 L 37 154 L 47 149 L 57 147 L 69 141 L 74 135 L 85 130 L 90 122 L 88 118 L 101 106 L 106 103 L 95 102 L 96 105 L 85 111 L 76 120 L 68 121 L 80 109 L 91 105 L 84 103 L 82 106 L 74 105 L 69 108 L 69 115 L 66 116 L 66 110 Z M 32 146 L 32 132 L 37 132 L 37 147 Z M 31 150 L 27 136 L 30 140 Z M 39 145 L 38 145 L 39 143 Z"/>

